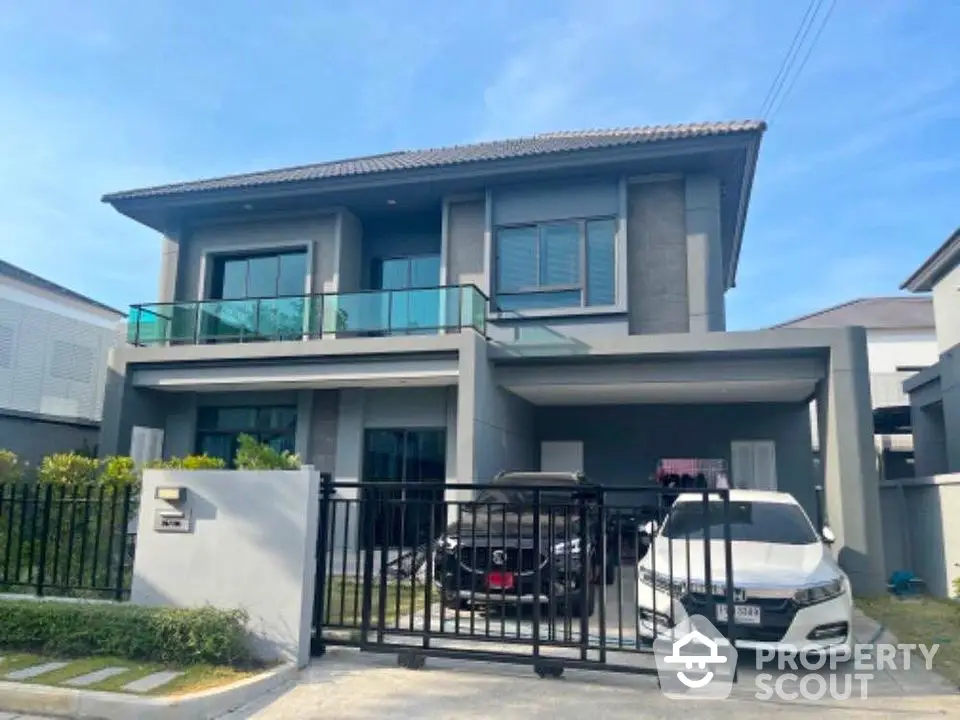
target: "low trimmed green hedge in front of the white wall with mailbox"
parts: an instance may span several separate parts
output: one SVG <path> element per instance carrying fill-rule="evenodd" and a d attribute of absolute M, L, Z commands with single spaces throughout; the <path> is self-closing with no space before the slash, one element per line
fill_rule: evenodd
<path fill-rule="evenodd" d="M 246 666 L 246 622 L 239 610 L 0 601 L 0 650 Z"/>

